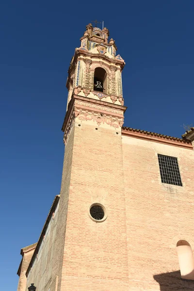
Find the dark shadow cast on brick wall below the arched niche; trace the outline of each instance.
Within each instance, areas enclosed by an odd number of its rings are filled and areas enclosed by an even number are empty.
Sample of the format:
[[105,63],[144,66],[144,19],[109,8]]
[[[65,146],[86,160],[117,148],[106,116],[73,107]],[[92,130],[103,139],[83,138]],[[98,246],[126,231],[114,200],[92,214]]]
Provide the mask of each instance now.
[[194,291],[194,280],[183,280],[180,271],[154,275],[161,291]]

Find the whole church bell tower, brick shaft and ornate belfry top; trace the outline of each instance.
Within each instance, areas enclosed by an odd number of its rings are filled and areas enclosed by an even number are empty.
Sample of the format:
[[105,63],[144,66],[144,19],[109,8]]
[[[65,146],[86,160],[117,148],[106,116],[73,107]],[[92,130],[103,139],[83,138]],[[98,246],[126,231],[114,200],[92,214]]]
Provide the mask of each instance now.
[[116,51],[108,29],[88,24],[68,70],[60,290],[128,290],[121,137],[125,62]]

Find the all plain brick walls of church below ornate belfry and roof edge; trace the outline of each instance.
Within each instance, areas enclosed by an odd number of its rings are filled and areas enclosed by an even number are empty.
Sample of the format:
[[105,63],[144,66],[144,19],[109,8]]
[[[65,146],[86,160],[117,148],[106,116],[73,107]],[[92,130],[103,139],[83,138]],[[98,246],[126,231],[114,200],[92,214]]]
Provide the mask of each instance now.
[[[178,157],[183,187],[162,184],[158,153]],[[181,239],[194,250],[193,173],[191,149],[76,118],[58,210],[26,291],[32,282],[37,291],[194,290],[180,279],[176,250]],[[89,217],[92,203],[106,207],[104,222]]]

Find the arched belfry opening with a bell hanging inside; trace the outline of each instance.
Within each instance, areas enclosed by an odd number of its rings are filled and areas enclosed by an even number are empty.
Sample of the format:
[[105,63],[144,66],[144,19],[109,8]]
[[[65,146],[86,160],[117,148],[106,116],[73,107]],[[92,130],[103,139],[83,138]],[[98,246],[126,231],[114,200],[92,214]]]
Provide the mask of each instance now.
[[94,72],[94,90],[107,93],[107,73],[101,67],[97,67]]

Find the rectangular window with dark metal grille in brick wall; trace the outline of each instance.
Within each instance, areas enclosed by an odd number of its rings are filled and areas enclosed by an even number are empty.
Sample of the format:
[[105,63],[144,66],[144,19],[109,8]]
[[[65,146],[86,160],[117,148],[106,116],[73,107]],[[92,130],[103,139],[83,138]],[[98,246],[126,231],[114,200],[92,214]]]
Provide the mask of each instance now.
[[158,154],[158,161],[162,183],[182,186],[177,158]]

